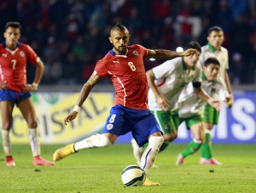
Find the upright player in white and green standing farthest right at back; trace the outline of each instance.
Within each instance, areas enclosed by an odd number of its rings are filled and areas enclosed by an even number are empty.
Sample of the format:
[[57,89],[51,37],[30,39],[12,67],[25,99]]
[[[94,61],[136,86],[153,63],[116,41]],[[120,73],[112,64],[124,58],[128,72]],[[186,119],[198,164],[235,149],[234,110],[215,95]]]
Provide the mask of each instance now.
[[[226,89],[228,94],[230,94],[230,101],[228,103],[228,108],[232,107],[233,96],[232,90],[230,86],[230,81],[228,77],[228,50],[223,48],[221,45],[224,41],[224,33],[223,30],[218,26],[213,26],[208,30],[208,44],[204,45],[201,50],[201,55],[199,61],[201,64],[204,63],[206,59],[209,57],[215,57],[219,63],[219,77],[221,77],[226,84]],[[209,105],[205,105],[205,142],[202,145],[202,154],[200,159],[200,164],[217,164],[220,165],[219,161],[213,158],[212,156],[212,145],[210,140],[210,134],[213,128],[213,125],[218,124],[219,119],[219,111],[214,110]]]

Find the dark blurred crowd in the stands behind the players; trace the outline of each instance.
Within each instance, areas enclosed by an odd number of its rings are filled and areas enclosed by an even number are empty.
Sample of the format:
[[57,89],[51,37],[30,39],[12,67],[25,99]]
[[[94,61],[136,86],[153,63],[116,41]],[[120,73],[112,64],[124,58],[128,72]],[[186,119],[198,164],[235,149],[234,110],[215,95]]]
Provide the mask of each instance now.
[[[205,45],[208,28],[220,26],[231,83],[256,82],[255,0],[1,0],[2,32],[8,21],[21,23],[21,42],[44,61],[44,85],[89,79],[95,62],[112,49],[108,37],[116,22],[128,28],[130,45],[167,50],[191,40]],[[161,62],[145,61],[146,70]]]

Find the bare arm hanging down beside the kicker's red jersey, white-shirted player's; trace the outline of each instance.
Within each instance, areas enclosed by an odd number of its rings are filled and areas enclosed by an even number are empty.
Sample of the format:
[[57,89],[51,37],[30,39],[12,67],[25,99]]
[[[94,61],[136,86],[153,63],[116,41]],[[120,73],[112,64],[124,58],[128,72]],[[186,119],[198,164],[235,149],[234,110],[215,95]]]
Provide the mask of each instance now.
[[146,72],[146,75],[147,75],[147,83],[149,85],[149,88],[152,89],[152,91],[154,92],[154,95],[156,96],[156,102],[161,107],[161,109],[169,110],[169,108],[170,108],[169,102],[170,101],[165,96],[162,96],[158,92],[156,85],[154,84],[154,76],[153,76],[152,70],[148,70]]

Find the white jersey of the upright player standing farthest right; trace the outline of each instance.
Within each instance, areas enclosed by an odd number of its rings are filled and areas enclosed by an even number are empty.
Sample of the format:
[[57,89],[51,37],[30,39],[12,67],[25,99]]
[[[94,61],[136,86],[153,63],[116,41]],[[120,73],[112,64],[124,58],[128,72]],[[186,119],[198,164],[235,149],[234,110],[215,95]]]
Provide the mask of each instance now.
[[219,61],[220,63],[219,77],[225,80],[225,71],[228,70],[229,68],[228,50],[226,48],[221,47],[221,50],[217,51],[210,45],[210,43],[208,43],[207,45],[204,45],[201,48],[201,54],[199,57],[199,61],[201,65],[203,66],[203,63],[205,62],[205,60],[210,57],[214,57]]

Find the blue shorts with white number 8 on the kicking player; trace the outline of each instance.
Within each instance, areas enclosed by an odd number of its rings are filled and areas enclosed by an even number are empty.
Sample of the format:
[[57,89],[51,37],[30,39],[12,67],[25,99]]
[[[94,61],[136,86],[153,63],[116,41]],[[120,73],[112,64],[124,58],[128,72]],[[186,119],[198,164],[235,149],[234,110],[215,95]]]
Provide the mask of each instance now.
[[102,133],[112,133],[120,136],[131,132],[141,147],[148,142],[151,134],[158,131],[161,132],[160,127],[149,110],[136,110],[115,105],[110,110]]

